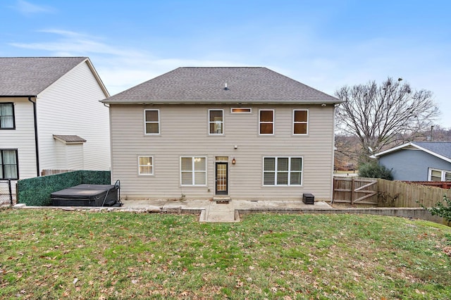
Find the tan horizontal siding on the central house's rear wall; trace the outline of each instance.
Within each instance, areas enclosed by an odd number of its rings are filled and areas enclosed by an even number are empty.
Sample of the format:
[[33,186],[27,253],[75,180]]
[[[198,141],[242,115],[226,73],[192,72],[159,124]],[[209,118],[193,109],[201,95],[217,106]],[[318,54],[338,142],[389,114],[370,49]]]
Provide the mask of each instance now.
[[[112,180],[128,199],[208,199],[215,195],[215,158],[228,156],[232,199],[331,199],[333,106],[145,106],[111,104]],[[144,135],[144,109],[159,109],[160,135]],[[223,109],[223,135],[209,135],[209,109]],[[259,110],[274,110],[274,135],[259,135]],[[292,135],[293,109],[309,110],[308,135]],[[237,149],[234,146],[237,145]],[[138,175],[137,157],[153,156],[154,175]],[[206,156],[206,187],[180,185],[180,156]],[[302,157],[303,185],[263,186],[264,157]],[[231,163],[235,158],[236,164]]]

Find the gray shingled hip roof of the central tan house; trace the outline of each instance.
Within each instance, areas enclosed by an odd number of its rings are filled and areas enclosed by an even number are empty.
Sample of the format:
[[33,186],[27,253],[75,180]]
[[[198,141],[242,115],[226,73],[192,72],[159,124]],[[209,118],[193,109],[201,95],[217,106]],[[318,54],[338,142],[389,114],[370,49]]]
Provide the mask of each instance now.
[[177,68],[104,99],[111,104],[336,104],[340,99],[268,68]]

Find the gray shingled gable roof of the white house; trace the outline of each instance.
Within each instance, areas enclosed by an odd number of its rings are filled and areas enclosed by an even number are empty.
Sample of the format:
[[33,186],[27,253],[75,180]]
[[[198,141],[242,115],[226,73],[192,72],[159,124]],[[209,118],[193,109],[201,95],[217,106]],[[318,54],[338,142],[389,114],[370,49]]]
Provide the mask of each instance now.
[[104,94],[109,96],[87,57],[0,57],[0,96],[37,96],[77,65],[85,62]]

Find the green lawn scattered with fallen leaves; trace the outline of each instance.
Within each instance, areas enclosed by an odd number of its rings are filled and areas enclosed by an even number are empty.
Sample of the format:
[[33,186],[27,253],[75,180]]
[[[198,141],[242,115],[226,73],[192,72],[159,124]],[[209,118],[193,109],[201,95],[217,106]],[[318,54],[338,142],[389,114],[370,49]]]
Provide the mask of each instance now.
[[373,215],[0,211],[0,299],[451,299],[451,228]]

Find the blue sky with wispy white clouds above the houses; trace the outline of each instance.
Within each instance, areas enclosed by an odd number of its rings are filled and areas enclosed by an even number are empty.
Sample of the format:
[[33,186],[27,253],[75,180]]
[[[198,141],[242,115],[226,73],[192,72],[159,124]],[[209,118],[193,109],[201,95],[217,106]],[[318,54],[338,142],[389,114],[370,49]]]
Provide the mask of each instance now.
[[89,56],[110,94],[183,66],[264,66],[333,94],[402,77],[451,127],[451,1],[2,0],[0,56]]

